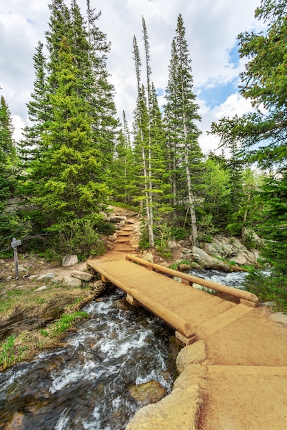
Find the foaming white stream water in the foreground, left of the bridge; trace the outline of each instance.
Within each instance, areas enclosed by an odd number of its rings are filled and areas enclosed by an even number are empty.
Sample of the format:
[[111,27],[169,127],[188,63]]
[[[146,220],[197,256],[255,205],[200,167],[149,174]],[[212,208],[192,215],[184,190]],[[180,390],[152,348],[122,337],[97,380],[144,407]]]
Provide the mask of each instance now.
[[169,329],[142,308],[114,306],[120,297],[87,305],[67,347],[0,374],[0,429],[11,420],[27,430],[125,429],[142,407],[129,385],[156,380],[170,391]]

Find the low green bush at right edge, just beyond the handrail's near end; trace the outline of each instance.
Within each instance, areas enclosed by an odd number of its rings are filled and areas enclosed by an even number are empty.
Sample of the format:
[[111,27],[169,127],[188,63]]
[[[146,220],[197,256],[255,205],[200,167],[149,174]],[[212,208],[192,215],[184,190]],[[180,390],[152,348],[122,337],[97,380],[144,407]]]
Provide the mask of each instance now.
[[275,309],[287,313],[287,280],[286,276],[266,274],[258,269],[248,273],[244,280],[246,291],[257,295],[260,301],[275,303]]

